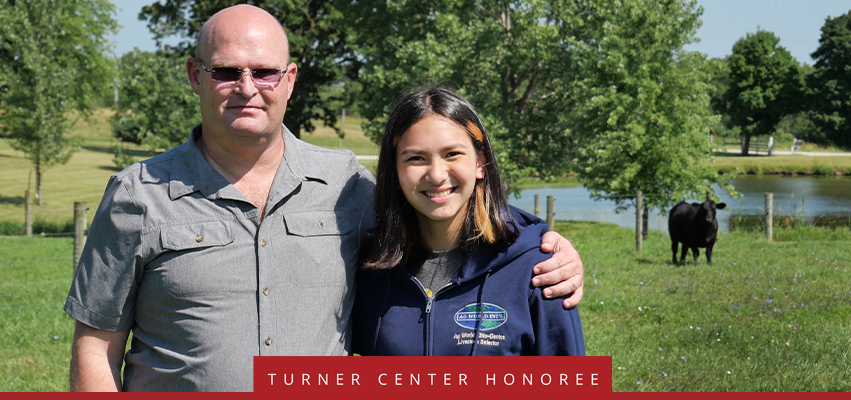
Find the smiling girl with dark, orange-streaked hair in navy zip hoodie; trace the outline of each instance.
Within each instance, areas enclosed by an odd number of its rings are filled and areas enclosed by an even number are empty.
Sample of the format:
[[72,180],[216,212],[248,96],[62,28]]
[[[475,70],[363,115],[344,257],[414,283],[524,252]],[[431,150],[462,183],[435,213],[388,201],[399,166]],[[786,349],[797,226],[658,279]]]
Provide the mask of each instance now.
[[531,266],[549,257],[540,251],[547,225],[509,209],[490,138],[463,97],[428,88],[399,101],[375,199],[355,353],[585,354],[576,307],[529,284]]

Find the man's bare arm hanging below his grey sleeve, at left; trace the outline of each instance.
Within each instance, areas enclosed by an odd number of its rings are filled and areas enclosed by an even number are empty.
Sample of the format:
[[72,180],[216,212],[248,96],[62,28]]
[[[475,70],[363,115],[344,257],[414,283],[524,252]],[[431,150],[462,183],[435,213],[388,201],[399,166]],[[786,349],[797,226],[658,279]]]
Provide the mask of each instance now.
[[130,331],[104,331],[77,321],[71,345],[71,391],[120,392],[129,335]]

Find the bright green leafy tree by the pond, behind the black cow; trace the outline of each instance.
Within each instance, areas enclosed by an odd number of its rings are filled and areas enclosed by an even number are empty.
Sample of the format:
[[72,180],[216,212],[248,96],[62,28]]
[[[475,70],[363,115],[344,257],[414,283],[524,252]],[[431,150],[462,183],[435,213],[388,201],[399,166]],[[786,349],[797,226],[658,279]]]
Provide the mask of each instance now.
[[710,65],[683,50],[702,11],[694,1],[615,3],[588,2],[585,36],[570,38],[580,77],[564,118],[577,178],[619,210],[636,191],[650,209],[703,198],[713,183],[735,193],[711,166]]

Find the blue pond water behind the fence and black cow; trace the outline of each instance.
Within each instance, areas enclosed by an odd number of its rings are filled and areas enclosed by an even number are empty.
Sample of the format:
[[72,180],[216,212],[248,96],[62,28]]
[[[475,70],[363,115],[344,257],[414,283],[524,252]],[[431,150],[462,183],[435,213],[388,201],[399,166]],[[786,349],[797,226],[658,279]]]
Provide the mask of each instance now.
[[[733,186],[743,197],[732,199],[721,188],[715,193],[727,203],[718,211],[718,228],[728,232],[731,224],[759,227],[765,211],[765,193],[774,193],[775,224],[816,224],[849,226],[851,224],[851,178],[778,175],[744,175],[733,179]],[[555,219],[599,221],[635,228],[635,210],[615,213],[615,202],[594,201],[584,187],[527,189],[520,197],[510,196],[509,203],[534,212],[534,196],[540,195],[540,215],[546,218],[546,197],[555,196]],[[698,201],[689,199],[688,201]],[[668,231],[668,217],[651,211],[648,228]]]

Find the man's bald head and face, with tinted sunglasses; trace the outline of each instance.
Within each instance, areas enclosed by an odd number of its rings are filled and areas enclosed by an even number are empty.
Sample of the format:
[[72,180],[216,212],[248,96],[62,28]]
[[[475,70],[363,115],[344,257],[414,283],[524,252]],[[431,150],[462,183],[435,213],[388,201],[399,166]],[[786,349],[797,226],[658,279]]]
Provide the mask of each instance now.
[[[288,47],[281,24],[254,6],[226,8],[204,24],[186,72],[201,102],[205,145],[249,150],[283,140],[282,122],[298,70],[289,62]],[[243,74],[212,73],[219,68],[237,68]],[[276,69],[281,80],[274,84],[245,73]]]

